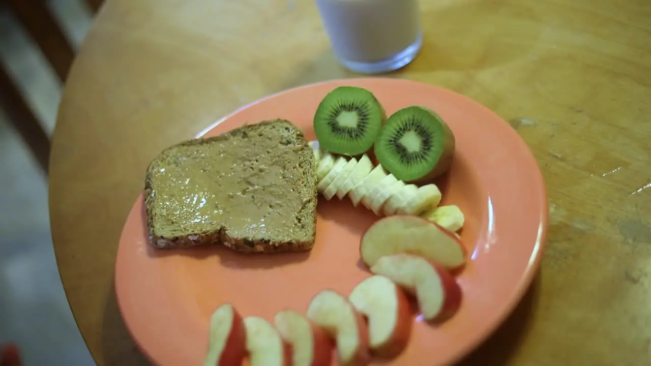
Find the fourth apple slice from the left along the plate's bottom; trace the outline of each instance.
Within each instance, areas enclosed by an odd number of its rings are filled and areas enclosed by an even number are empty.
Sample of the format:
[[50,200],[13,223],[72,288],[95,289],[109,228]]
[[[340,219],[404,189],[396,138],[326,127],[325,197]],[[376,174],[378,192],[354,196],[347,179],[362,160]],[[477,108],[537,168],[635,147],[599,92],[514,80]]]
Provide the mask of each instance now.
[[307,317],[335,339],[340,365],[368,364],[368,328],[364,317],[346,298],[334,290],[323,290],[308,305]]

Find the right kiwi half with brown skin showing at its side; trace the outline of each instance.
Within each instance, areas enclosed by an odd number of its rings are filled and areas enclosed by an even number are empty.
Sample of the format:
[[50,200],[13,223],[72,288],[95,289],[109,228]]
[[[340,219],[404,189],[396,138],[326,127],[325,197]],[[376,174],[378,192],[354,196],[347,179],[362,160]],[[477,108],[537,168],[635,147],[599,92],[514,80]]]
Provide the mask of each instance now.
[[449,169],[454,135],[434,111],[406,107],[391,115],[380,128],[374,152],[396,178],[406,183],[427,183]]

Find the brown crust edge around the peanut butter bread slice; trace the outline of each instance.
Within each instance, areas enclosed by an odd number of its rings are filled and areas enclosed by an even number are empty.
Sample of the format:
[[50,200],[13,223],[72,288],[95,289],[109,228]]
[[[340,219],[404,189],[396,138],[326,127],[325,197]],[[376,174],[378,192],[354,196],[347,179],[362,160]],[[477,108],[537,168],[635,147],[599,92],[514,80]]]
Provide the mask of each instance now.
[[[161,160],[167,156],[170,152],[173,152],[174,149],[183,146],[193,146],[193,145],[203,145],[203,144],[212,144],[217,141],[225,141],[230,139],[236,134],[242,134],[242,132],[247,132],[255,128],[266,124],[278,124],[282,128],[291,126],[294,132],[301,138],[301,151],[298,153],[302,157],[307,158],[307,165],[305,171],[305,177],[307,182],[304,182],[307,185],[307,189],[314,192],[309,201],[306,203],[309,205],[309,212],[311,213],[311,227],[313,228],[311,236],[307,240],[290,240],[290,241],[273,241],[259,238],[238,238],[232,237],[228,234],[228,228],[224,226],[215,227],[214,230],[204,231],[204,232],[191,232],[185,235],[167,237],[159,234],[156,231],[156,225],[154,223],[154,215],[152,210],[156,205],[156,194],[154,182],[152,182],[152,177],[154,169],[158,167],[161,163]],[[305,140],[303,132],[299,130],[292,122],[283,119],[275,120],[265,120],[258,122],[256,124],[244,124],[239,128],[230,130],[221,135],[207,138],[198,138],[184,141],[178,143],[172,147],[165,148],[147,167],[145,175],[145,207],[146,207],[146,216],[147,216],[147,227],[149,231],[150,243],[152,246],[161,248],[161,249],[173,249],[173,248],[184,248],[184,247],[193,247],[193,246],[204,246],[204,245],[224,245],[239,251],[242,253],[281,253],[287,251],[309,251],[314,246],[314,238],[316,237],[316,201],[317,201],[317,191],[316,191],[316,176],[314,176],[314,153],[312,148]]]

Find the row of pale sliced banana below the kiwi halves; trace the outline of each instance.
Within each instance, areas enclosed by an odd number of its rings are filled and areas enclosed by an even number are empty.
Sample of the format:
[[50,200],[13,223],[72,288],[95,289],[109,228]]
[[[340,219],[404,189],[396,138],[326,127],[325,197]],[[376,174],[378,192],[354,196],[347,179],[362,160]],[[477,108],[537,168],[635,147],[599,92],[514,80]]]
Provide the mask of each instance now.
[[361,203],[378,216],[422,216],[452,232],[464,226],[464,214],[457,206],[438,206],[441,191],[436,184],[406,184],[381,165],[374,166],[367,154],[357,160],[330,154],[318,141],[310,145],[316,158],[316,189],[327,200],[348,195],[353,206]]

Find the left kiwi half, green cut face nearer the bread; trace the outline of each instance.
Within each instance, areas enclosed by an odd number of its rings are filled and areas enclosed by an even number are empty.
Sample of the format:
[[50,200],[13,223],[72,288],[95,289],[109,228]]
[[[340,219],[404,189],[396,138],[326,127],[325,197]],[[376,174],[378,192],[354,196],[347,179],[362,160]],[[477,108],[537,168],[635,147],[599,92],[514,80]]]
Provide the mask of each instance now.
[[373,147],[384,119],[384,109],[372,92],[337,87],[316,108],[314,133],[324,150],[355,156]]

